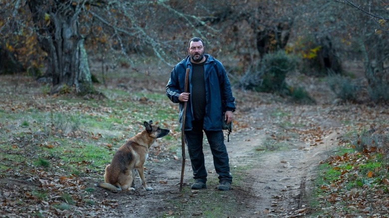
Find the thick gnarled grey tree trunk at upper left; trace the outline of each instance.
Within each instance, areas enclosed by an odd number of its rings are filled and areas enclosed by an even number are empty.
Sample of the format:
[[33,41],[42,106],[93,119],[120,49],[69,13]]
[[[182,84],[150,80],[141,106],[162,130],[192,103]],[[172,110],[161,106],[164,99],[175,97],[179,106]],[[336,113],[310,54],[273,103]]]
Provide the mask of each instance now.
[[38,27],[40,46],[48,53],[46,75],[52,77],[50,93],[67,92],[71,89],[75,89],[78,94],[92,92],[84,39],[78,31],[79,9],[51,0],[27,2]]

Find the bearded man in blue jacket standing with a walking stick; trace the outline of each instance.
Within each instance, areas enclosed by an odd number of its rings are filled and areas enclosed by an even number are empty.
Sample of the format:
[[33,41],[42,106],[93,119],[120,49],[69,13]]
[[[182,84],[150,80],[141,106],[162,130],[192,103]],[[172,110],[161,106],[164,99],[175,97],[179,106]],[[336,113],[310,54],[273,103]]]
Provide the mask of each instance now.
[[[185,141],[192,162],[195,182],[192,189],[206,189],[207,173],[202,151],[203,132],[213,155],[216,173],[219,175],[218,190],[231,188],[232,176],[229,172],[229,159],[224,144],[223,118],[232,122],[235,111],[235,98],[223,65],[205,54],[203,41],[192,38],[188,43],[189,55],[172,70],[166,86],[166,95],[173,103],[180,104],[180,127],[186,115]],[[186,69],[190,69],[189,93],[185,93]],[[187,114],[183,114],[187,102]],[[225,112],[224,117],[222,113]]]

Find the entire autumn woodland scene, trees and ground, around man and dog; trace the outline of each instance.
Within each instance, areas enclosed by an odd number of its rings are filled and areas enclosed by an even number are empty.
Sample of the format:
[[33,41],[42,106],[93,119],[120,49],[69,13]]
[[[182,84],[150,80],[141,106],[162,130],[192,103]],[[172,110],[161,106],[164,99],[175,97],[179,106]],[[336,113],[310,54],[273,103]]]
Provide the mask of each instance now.
[[[388,216],[388,9],[383,0],[0,0],[0,215]],[[189,163],[184,191],[175,186],[178,109],[165,86],[194,36],[223,63],[238,106],[227,193],[193,193]],[[156,191],[97,189],[150,117],[171,129],[145,167]],[[328,158],[317,166],[319,151]]]

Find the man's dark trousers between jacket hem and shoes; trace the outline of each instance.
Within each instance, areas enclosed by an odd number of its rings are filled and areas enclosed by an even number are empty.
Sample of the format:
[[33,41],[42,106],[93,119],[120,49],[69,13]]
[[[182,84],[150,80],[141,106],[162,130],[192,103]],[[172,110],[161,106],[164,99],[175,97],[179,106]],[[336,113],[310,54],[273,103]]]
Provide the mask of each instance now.
[[[206,169],[204,165],[204,153],[202,151],[203,129],[202,121],[193,121],[193,129],[185,131],[185,141],[188,147],[188,153],[191,158],[194,179],[206,182]],[[209,147],[213,156],[213,164],[216,173],[219,175],[219,181],[232,182],[232,176],[229,172],[229,159],[227,149],[224,144],[223,131],[205,131]]]

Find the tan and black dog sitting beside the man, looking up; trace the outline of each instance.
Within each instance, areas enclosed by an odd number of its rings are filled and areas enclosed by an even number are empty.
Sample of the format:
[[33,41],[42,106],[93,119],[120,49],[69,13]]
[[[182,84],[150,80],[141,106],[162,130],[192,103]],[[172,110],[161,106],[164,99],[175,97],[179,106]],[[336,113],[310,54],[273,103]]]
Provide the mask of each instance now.
[[105,167],[104,183],[97,186],[110,190],[111,192],[134,191],[135,170],[138,171],[143,188],[151,191],[148,187],[143,173],[143,165],[149,155],[149,148],[157,138],[169,134],[169,129],[152,125],[153,121],[144,122],[145,129],[131,137],[115,153],[111,164]]

